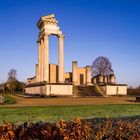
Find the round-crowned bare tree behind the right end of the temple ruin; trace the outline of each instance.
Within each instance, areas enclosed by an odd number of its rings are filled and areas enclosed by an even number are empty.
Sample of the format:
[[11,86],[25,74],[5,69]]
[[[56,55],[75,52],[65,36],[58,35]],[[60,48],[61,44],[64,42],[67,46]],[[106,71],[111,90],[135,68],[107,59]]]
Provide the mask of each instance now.
[[92,77],[96,75],[105,75],[108,76],[110,74],[114,74],[112,65],[108,58],[104,56],[98,57],[92,63]]

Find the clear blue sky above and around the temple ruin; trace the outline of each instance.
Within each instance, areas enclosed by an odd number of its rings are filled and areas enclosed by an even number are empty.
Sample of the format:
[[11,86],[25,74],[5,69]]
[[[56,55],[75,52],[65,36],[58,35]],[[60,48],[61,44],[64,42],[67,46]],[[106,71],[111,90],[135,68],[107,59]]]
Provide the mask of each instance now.
[[[21,81],[34,76],[36,23],[52,13],[65,35],[65,71],[73,60],[85,66],[106,56],[119,83],[140,85],[139,0],[0,0],[0,82],[11,68]],[[57,63],[53,36],[50,58]]]

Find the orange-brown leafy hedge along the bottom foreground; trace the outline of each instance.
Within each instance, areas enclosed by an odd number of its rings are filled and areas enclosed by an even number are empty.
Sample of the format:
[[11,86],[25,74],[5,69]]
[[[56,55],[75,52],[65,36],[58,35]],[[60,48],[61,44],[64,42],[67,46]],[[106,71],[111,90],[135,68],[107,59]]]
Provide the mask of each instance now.
[[16,126],[4,123],[0,126],[3,140],[139,140],[140,119],[90,120],[75,119],[71,122],[24,123]]

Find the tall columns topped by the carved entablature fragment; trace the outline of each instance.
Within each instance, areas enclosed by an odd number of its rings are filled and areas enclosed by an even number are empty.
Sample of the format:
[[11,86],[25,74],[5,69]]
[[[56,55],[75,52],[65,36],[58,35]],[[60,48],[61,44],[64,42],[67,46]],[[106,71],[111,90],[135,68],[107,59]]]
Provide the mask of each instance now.
[[55,35],[58,37],[58,81],[64,83],[64,35],[58,26],[58,21],[54,15],[41,17],[37,23],[40,30],[38,36],[38,65],[36,67],[36,82],[49,83],[51,68],[57,70],[57,66],[49,68],[49,36]]

